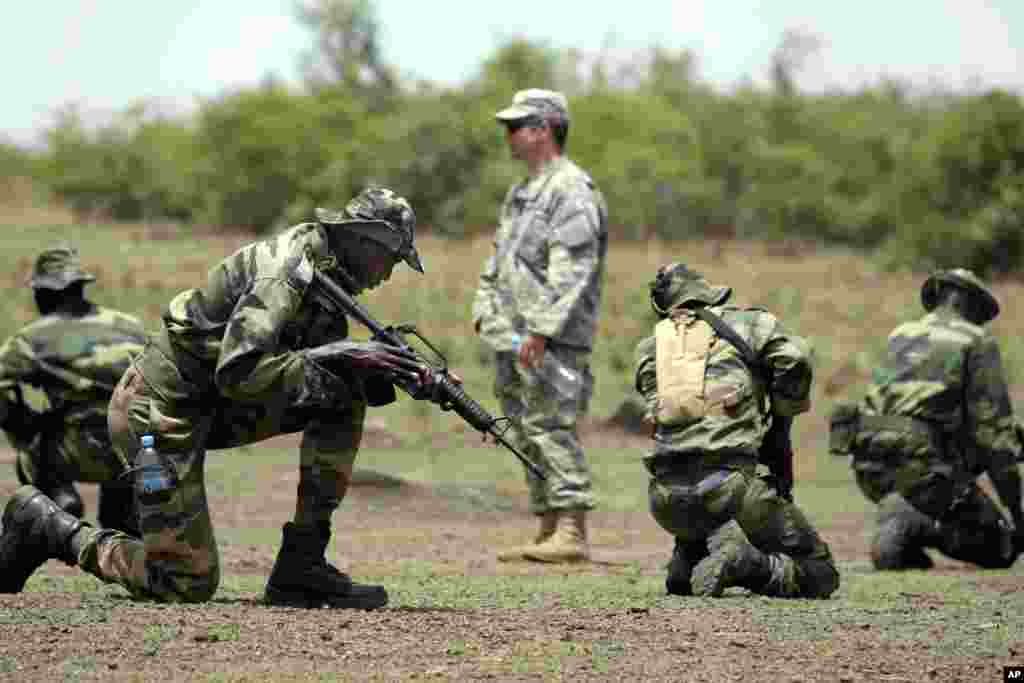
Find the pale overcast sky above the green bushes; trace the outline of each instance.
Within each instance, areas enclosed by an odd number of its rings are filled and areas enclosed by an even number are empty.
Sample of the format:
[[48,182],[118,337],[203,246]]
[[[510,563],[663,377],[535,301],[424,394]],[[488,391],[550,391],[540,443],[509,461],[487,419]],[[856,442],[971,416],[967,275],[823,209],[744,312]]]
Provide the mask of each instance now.
[[[0,137],[34,142],[53,111],[120,111],[139,98],[187,109],[196,96],[293,80],[310,36],[291,0],[41,0],[7,3]],[[510,36],[597,52],[689,48],[698,75],[728,87],[767,75],[786,29],[819,36],[806,88],[880,76],[922,86],[1024,91],[1024,0],[376,0],[385,58],[456,84]]]

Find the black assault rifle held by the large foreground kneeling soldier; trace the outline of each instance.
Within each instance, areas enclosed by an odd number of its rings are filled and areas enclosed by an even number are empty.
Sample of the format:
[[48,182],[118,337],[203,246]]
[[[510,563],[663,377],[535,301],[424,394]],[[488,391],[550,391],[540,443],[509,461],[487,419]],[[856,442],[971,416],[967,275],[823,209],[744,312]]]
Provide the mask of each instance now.
[[[429,368],[431,373],[431,382],[429,384],[431,395],[429,398],[437,403],[442,411],[455,411],[456,415],[468,422],[471,427],[485,435],[489,434],[498,443],[511,451],[512,455],[518,458],[519,462],[536,476],[541,479],[547,478],[544,471],[536,463],[522,455],[518,449],[505,438],[505,433],[511,426],[509,419],[505,417],[493,417],[487,413],[486,409],[473,400],[466,393],[465,389],[452,379],[452,375],[447,371],[447,359],[444,357],[444,354],[427,341],[415,326],[399,325],[397,327],[384,327],[375,321],[370,311],[353,299],[348,292],[319,271],[313,271],[313,286],[332,305],[346,315],[354,317],[370,330],[373,333],[374,341],[411,351],[421,362]],[[424,357],[419,350],[406,341],[404,335],[411,335],[423,342],[436,356],[436,361],[431,362],[430,359]],[[422,397],[416,393],[413,387],[407,386],[401,382],[395,382],[395,384],[410,395]]]

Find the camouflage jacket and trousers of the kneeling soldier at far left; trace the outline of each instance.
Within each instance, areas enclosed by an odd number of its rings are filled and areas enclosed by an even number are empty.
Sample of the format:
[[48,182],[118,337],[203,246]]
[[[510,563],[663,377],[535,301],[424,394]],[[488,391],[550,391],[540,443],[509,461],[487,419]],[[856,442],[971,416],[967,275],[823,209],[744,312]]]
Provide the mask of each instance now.
[[0,346],[0,395],[25,384],[49,404],[33,420],[34,437],[11,439],[27,483],[98,483],[124,470],[111,447],[106,405],[146,339],[137,318],[89,305],[81,314],[44,315]]

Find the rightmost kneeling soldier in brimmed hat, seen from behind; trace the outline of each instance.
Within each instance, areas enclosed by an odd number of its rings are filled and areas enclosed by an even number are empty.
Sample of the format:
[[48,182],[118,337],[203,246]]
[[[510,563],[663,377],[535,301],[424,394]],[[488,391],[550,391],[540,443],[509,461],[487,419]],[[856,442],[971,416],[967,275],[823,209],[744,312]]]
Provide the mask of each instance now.
[[836,452],[852,452],[858,485],[879,504],[877,568],[930,568],[926,548],[982,567],[1009,567],[1020,537],[1015,544],[995,501],[975,481],[988,473],[1019,535],[1020,443],[999,349],[984,327],[999,305],[962,268],[928,278],[921,300],[927,314],[889,336],[859,410],[844,405],[834,414],[834,443],[849,444]]

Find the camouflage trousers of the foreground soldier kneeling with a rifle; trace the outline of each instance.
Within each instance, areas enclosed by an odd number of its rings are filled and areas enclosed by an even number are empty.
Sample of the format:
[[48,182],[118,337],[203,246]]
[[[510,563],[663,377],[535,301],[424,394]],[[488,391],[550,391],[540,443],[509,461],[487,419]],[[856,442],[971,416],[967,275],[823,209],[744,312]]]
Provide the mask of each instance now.
[[[144,353],[153,352],[150,347]],[[202,602],[213,596],[220,582],[204,478],[207,444],[226,447],[232,441],[241,444],[260,440],[281,433],[283,425],[295,431],[297,420],[274,412],[272,405],[172,401],[166,398],[167,387],[158,386],[134,366],[125,373],[108,413],[111,436],[115,447],[130,460],[140,436],[153,434],[157,450],[171,460],[177,471],[178,487],[167,503],[139,505],[141,541],[111,529],[87,527],[79,565],[137,597]],[[337,507],[334,477],[346,467],[350,471],[365,414],[366,404],[353,402],[330,416],[307,421],[300,446],[299,511],[306,501],[319,506],[316,513],[329,518]],[[248,429],[242,430],[239,425]],[[225,427],[227,435],[214,433]],[[328,485],[322,486],[324,481]]]

